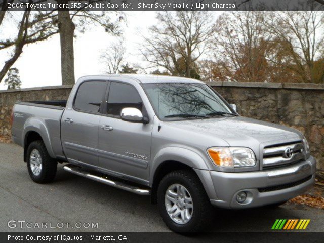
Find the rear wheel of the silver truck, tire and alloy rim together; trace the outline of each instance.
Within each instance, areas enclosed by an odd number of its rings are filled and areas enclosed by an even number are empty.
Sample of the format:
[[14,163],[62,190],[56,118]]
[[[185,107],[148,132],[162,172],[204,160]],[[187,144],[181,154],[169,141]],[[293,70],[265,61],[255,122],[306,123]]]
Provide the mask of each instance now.
[[42,140],[33,141],[27,149],[27,168],[30,178],[37,183],[54,180],[57,161],[50,157]]

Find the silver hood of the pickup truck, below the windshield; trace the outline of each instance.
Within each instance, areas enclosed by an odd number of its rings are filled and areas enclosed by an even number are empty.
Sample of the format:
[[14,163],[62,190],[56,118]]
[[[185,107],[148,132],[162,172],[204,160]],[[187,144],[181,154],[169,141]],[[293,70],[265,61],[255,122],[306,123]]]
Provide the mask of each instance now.
[[301,140],[302,136],[295,129],[242,116],[182,120],[174,124],[190,132],[223,139],[229,146],[248,147],[253,144],[253,147],[259,147],[260,143],[286,143]]

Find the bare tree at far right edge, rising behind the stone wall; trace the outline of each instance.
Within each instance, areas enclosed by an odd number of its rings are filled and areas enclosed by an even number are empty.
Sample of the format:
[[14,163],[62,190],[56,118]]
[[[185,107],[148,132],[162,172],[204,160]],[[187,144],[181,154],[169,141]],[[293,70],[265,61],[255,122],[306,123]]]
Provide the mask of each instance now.
[[[309,6],[308,6],[309,7]],[[318,83],[314,63],[324,50],[324,13],[320,11],[279,12],[265,21],[287,53],[286,62],[274,63],[292,70],[300,82]],[[272,59],[276,60],[276,59]]]

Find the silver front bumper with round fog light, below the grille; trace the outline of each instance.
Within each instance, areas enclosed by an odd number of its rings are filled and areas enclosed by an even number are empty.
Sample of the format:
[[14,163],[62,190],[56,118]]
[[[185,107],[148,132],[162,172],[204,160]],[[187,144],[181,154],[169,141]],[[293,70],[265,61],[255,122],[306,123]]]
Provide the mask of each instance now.
[[[265,206],[288,200],[307,191],[315,181],[316,161],[310,156],[290,167],[244,173],[196,170],[212,205],[227,209]],[[209,175],[208,175],[208,174]],[[236,195],[247,198],[238,203]]]

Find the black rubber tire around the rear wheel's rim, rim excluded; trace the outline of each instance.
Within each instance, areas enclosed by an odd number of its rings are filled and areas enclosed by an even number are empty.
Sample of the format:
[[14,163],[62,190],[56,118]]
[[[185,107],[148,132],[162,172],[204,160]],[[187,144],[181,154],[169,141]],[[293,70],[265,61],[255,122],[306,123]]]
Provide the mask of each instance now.
[[[42,169],[39,174],[32,172],[30,155],[32,151],[38,151],[41,156]],[[35,152],[35,151],[34,151]],[[36,183],[48,183],[54,180],[57,170],[57,161],[50,157],[42,140],[33,141],[27,149],[27,168],[30,178]]]

